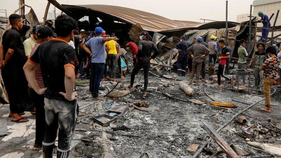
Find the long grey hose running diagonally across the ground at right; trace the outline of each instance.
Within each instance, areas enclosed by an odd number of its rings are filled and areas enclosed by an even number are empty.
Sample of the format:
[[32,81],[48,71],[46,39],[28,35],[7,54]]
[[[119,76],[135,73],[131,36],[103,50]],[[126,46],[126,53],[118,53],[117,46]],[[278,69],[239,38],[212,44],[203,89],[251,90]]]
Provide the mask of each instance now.
[[[270,87],[270,88],[272,88],[272,87]],[[272,89],[274,90],[274,92],[271,93],[270,96],[273,95],[273,94],[276,92],[276,89],[275,89],[275,88],[272,88]],[[255,102],[255,103],[249,105],[248,107],[244,108],[242,111],[240,111],[240,112],[238,112],[237,114],[233,115],[233,117],[231,117],[231,119],[229,119],[229,121],[227,121],[225,124],[223,124],[221,127],[219,127],[219,129],[217,129],[217,132],[219,132],[219,131],[220,131],[221,129],[223,129],[226,125],[228,125],[236,116],[240,115],[241,113],[243,113],[244,111],[248,110],[249,108],[251,108],[252,106],[254,106],[255,104],[257,104],[258,102],[263,101],[264,99],[265,99],[265,98],[262,98],[262,99],[258,100],[257,102]],[[201,148],[193,155],[192,158],[196,158],[196,157],[201,153],[201,151],[203,150],[203,148],[205,148],[205,146],[208,145],[208,143],[209,143],[211,140],[212,140],[212,138],[210,137],[210,138],[207,140],[207,142],[205,142],[205,143],[201,146]]]

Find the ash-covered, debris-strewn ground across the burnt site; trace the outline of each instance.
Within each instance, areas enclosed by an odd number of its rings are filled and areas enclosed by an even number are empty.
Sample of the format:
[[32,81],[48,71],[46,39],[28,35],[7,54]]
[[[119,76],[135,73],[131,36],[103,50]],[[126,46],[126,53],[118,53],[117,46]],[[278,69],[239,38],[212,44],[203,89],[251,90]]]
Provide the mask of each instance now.
[[[132,68],[131,68],[132,69]],[[140,72],[141,73],[141,72]],[[176,72],[167,73],[174,76]],[[126,74],[130,77],[130,73]],[[252,76],[253,77],[253,76]],[[253,79],[251,77],[251,84]],[[208,78],[208,75],[206,75]],[[177,77],[185,83],[189,82],[189,76]],[[130,80],[129,78],[123,80]],[[135,79],[134,85],[142,85],[143,75],[140,74]],[[112,82],[113,83],[113,82]],[[200,124],[207,120],[214,129],[218,129],[226,123],[238,111],[243,110],[250,104],[263,98],[263,93],[257,95],[250,89],[236,92],[229,89],[219,89],[212,87],[217,83],[206,83],[201,81],[201,86],[194,83],[189,85],[195,91],[193,96],[183,94],[183,90],[179,88],[179,81],[175,78],[159,78],[154,75],[149,76],[149,87],[159,87],[157,92],[149,92],[147,98],[142,99],[142,92],[136,90],[121,98],[107,98],[104,101],[92,100],[88,93],[89,86],[77,86],[79,118],[76,126],[74,138],[72,140],[72,149],[70,157],[140,157],[142,153],[147,153],[149,157],[192,157],[195,152],[210,137],[201,127]],[[223,85],[224,84],[224,85]],[[224,82],[222,87],[229,87],[229,81]],[[120,88],[121,83],[116,86],[116,90]],[[124,83],[128,86],[129,83]],[[163,85],[163,86],[162,86]],[[105,95],[113,88],[113,84],[107,83],[106,90],[100,91],[100,95]],[[107,88],[108,87],[108,88]],[[277,88],[277,86],[273,86]],[[204,90],[210,95],[208,97]],[[168,93],[179,100],[168,99],[163,93]],[[254,92],[254,93],[252,93]],[[273,90],[271,90],[271,93]],[[255,96],[252,96],[255,95]],[[197,105],[191,102],[184,102],[188,99],[198,99],[206,102],[203,105]],[[136,100],[147,102],[149,106],[154,106],[155,111],[144,112],[138,109],[132,110],[132,103]],[[180,101],[183,100],[183,101]],[[217,110],[210,107],[210,102],[216,100],[218,102],[233,103],[237,108],[231,108],[231,111]],[[236,101],[239,102],[236,102]],[[280,92],[271,96],[271,113],[260,111],[264,107],[264,100],[255,104],[241,115],[244,115],[252,125],[262,125],[279,131],[275,126],[280,123]],[[130,104],[130,110],[124,115],[118,117],[117,120],[107,127],[102,127],[89,116],[108,114],[103,106],[105,104],[116,102],[119,104]],[[9,106],[1,107],[2,117],[7,117]],[[29,112],[26,112],[29,114]],[[238,116],[241,116],[238,115]],[[30,119],[27,123],[13,123],[7,119],[8,135],[1,137],[0,156],[3,157],[41,157],[42,151],[33,151],[32,145],[35,138],[35,116],[26,115]],[[117,116],[115,116],[117,117]],[[247,125],[237,122],[238,117],[233,119],[219,134],[230,145],[235,144],[249,155],[242,157],[252,157],[269,155],[262,151],[253,149],[247,144],[247,141],[262,142],[268,144],[281,144],[281,137],[278,132],[269,130],[266,134],[259,134],[245,138],[242,129]],[[57,142],[56,142],[57,144]],[[187,150],[189,146],[198,144],[196,151]],[[198,157],[211,157],[219,149],[215,142],[211,142],[206,146]],[[214,157],[226,157],[223,152],[218,152]]]

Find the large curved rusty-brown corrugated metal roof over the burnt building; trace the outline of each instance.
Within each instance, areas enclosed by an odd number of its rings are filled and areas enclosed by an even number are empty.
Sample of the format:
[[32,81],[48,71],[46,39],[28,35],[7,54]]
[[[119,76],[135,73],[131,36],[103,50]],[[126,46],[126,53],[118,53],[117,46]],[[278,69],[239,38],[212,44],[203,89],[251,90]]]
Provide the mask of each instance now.
[[[118,19],[124,20],[130,24],[139,23],[140,26],[147,31],[164,31],[171,28],[176,28],[179,26],[183,26],[180,22],[170,20],[168,18],[164,18],[162,16],[126,8],[126,7],[119,7],[113,5],[99,5],[99,4],[92,4],[92,5],[62,5],[67,10],[72,12],[74,9],[81,8],[81,9],[90,9],[95,12],[108,14],[110,16],[116,17]],[[71,13],[75,14],[75,13]]]

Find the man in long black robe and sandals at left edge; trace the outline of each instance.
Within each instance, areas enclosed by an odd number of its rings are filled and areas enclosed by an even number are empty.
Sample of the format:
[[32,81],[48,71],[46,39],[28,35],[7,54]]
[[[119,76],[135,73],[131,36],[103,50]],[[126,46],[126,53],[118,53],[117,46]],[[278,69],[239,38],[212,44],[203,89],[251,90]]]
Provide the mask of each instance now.
[[22,67],[26,62],[24,45],[20,38],[23,23],[18,14],[9,16],[12,28],[3,34],[0,47],[0,68],[10,101],[10,116],[12,122],[27,122],[28,119],[20,115],[26,107],[32,105],[27,93],[27,81]]

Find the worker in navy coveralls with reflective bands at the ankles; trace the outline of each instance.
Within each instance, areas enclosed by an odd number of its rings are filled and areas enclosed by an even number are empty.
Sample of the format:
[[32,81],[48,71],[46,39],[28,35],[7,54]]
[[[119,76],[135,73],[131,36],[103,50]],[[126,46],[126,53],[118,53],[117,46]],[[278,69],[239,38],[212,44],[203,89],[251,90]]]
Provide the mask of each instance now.
[[177,61],[178,75],[185,76],[185,69],[187,64],[187,48],[190,47],[190,43],[185,40],[185,37],[181,37],[181,41],[176,44],[176,49],[179,50],[179,56]]

